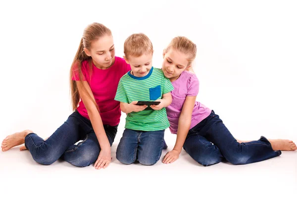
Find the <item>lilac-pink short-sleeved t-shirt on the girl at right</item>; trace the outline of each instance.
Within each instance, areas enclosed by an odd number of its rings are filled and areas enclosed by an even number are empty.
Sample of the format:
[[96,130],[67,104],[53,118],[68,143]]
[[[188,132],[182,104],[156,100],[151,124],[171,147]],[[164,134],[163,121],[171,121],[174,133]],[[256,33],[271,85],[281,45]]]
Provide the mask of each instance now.
[[[171,91],[172,103],[166,107],[167,117],[170,123],[170,132],[177,134],[178,119],[181,115],[183,105],[187,96],[197,96],[199,91],[199,81],[195,74],[184,71],[180,77],[172,82],[174,90]],[[196,101],[192,113],[190,129],[210,115],[211,110]]]

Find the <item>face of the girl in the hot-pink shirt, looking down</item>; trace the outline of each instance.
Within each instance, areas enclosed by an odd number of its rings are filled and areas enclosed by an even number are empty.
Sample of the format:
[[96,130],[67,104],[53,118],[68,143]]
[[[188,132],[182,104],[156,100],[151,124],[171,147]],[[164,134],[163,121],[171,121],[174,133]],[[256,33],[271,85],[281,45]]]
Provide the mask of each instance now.
[[98,68],[108,68],[114,62],[114,45],[111,35],[100,37],[91,43],[91,50],[85,49],[87,55],[92,56]]

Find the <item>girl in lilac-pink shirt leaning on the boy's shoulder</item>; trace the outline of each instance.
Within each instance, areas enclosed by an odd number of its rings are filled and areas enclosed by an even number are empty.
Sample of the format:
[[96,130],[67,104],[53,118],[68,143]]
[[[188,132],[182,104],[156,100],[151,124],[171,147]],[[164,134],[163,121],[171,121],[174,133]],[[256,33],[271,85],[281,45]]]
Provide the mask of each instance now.
[[172,103],[166,107],[169,129],[177,134],[175,146],[164,156],[163,163],[178,159],[182,148],[203,166],[223,159],[232,164],[248,164],[279,156],[281,150],[297,149],[292,141],[267,140],[263,136],[258,141],[237,141],[213,110],[196,101],[199,81],[187,71],[192,69],[196,51],[192,41],[176,37],[163,52],[162,69],[174,87]]

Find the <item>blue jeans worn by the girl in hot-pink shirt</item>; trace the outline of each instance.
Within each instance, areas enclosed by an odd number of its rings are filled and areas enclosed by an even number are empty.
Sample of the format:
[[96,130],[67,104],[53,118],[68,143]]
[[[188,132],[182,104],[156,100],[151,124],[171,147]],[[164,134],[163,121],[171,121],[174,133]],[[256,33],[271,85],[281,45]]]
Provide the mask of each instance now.
[[[106,136],[112,145],[117,126],[103,125]],[[78,141],[82,140],[77,145]],[[96,162],[100,146],[91,121],[74,111],[46,141],[35,133],[25,137],[25,146],[35,161],[49,165],[60,157],[79,167]]]

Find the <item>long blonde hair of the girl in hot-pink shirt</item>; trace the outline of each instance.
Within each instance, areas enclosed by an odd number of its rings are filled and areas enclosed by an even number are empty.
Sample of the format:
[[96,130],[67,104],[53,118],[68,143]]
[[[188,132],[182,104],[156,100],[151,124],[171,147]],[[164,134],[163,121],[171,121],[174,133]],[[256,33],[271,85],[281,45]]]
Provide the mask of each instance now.
[[[73,59],[71,69],[70,69],[70,94],[71,94],[71,103],[72,103],[73,110],[77,108],[80,100],[80,95],[78,92],[76,81],[72,80],[73,75],[78,73],[79,80],[82,81],[83,79],[82,62],[84,60],[89,60],[89,65],[90,65],[89,76],[91,76],[92,74],[92,57],[86,54],[86,52],[84,51],[84,48],[90,50],[92,42],[98,40],[100,37],[105,35],[111,35],[111,31],[100,23],[92,23],[88,25],[84,30],[83,38],[80,41],[78,50],[75,54],[75,57]],[[83,87],[83,89],[84,91],[86,91],[85,87]],[[92,99],[92,97],[89,94],[88,94],[88,97]],[[96,101],[94,99],[92,100],[95,103],[97,109],[99,110]]]

